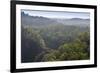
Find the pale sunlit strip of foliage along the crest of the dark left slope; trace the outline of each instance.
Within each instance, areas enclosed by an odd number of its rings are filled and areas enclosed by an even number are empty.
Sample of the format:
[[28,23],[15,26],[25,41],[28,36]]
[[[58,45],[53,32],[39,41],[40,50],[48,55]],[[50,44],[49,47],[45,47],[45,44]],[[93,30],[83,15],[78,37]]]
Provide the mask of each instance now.
[[31,40],[35,41],[41,48],[47,49],[44,39],[39,34],[38,30],[34,30],[33,28],[29,27],[25,29],[26,36]]

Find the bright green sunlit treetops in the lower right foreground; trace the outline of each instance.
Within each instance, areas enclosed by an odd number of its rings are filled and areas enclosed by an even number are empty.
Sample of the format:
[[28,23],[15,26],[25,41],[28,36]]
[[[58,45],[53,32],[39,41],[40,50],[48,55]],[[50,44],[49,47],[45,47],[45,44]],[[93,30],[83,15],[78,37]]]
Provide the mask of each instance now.
[[[88,40],[88,41],[87,41]],[[83,60],[89,59],[88,49],[89,34],[84,32],[79,34],[78,38],[72,43],[61,45],[57,51],[50,52],[44,56],[45,61],[59,60]],[[56,53],[57,52],[57,53]]]

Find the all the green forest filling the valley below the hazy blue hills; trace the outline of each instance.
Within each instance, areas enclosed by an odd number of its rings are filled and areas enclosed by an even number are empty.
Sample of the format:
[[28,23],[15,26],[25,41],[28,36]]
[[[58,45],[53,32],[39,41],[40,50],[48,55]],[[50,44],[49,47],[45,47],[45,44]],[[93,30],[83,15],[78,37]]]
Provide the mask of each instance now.
[[[43,21],[43,17],[24,18]],[[22,62],[45,62],[65,60],[86,60],[90,58],[90,28],[89,26],[64,25],[44,19],[28,26],[30,21],[24,21],[21,26]],[[25,24],[27,22],[27,24]],[[32,21],[33,22],[33,21]]]

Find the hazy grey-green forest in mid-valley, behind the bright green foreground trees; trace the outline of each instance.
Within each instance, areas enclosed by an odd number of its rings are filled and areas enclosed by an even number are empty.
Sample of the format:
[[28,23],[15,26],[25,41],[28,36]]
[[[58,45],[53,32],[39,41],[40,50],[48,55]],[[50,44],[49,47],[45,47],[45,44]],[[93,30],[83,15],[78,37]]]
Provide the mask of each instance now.
[[79,33],[87,31],[87,27],[55,25],[40,29],[40,35],[49,48],[55,49],[64,43],[73,42]]

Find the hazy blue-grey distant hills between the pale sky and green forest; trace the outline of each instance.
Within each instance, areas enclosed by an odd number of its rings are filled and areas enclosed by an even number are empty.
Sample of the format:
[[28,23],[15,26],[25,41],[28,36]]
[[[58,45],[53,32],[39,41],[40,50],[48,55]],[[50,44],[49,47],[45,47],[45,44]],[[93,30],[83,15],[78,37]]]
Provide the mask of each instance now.
[[42,16],[30,16],[21,13],[21,24],[23,26],[31,27],[44,27],[51,25],[74,25],[74,26],[89,26],[90,19],[71,18],[71,19],[59,19],[59,18],[47,18]]

